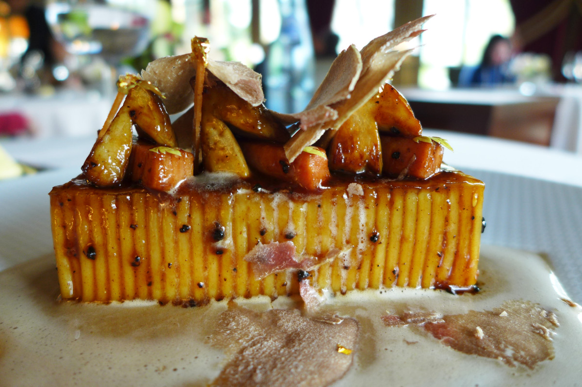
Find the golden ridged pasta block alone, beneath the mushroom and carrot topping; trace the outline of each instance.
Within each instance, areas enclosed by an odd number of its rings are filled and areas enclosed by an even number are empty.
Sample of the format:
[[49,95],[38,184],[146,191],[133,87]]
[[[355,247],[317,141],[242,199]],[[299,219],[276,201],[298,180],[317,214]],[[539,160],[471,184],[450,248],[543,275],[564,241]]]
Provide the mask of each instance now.
[[[332,292],[477,281],[484,184],[471,176],[338,180],[317,194],[251,187],[196,179],[174,194],[83,180],[55,187],[62,297],[204,304],[297,294],[296,271],[257,280],[245,260],[259,242],[289,240],[297,254],[321,258],[309,280]],[[339,253],[324,259],[330,251]]]

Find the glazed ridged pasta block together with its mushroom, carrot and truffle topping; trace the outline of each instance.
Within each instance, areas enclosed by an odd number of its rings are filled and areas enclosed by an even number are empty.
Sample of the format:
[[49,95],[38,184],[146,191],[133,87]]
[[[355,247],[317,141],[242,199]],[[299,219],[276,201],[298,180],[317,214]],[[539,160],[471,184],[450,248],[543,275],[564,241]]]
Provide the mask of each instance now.
[[83,173],[49,193],[63,299],[474,290],[484,184],[386,84],[430,17],[342,51],[291,115],[203,38],[120,77]]

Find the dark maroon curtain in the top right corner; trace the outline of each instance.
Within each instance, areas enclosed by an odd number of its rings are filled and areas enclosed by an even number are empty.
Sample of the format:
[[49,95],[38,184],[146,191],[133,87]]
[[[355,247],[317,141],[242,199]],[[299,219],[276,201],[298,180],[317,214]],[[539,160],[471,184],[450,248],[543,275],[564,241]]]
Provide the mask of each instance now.
[[510,0],[520,50],[548,54],[552,77],[565,81],[562,61],[569,51],[582,50],[582,0]]

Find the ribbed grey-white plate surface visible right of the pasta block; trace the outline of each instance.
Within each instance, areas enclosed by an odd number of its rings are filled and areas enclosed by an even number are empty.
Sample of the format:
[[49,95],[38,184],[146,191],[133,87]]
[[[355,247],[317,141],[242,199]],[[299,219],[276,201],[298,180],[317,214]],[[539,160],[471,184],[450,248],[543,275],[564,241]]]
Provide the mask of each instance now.
[[546,255],[567,293],[582,303],[582,188],[463,168],[485,182],[482,244]]

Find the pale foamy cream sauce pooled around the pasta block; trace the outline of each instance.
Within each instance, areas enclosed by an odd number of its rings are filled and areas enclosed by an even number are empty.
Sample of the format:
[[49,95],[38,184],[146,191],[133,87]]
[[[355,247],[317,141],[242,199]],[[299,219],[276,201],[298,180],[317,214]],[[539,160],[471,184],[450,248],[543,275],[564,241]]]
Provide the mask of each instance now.
[[[582,379],[582,310],[569,304],[558,279],[537,254],[482,247],[481,292],[392,288],[331,297],[324,310],[356,318],[360,345],[352,368],[334,386],[574,385]],[[207,345],[226,302],[207,307],[150,301],[59,303],[54,257],[0,273],[0,385],[206,385],[225,358]],[[556,356],[534,370],[467,355],[415,326],[386,327],[381,315],[404,310],[442,314],[491,310],[528,300],[556,314]],[[255,310],[292,308],[279,297],[237,300]]]

